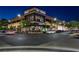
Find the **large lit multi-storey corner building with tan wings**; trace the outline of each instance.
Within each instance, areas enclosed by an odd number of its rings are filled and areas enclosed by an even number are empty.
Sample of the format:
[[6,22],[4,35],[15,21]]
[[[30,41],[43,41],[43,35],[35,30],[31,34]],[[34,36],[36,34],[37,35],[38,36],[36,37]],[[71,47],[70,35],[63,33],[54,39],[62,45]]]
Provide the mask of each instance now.
[[[21,23],[22,21],[24,21],[25,23],[28,22],[28,26],[22,27]],[[64,29],[66,28],[61,24],[56,23],[56,20],[54,20],[53,17],[47,16],[45,11],[40,10],[38,8],[31,8],[25,10],[23,15],[16,16],[8,24],[8,28],[13,27],[17,31],[27,31],[27,32],[28,31],[41,32],[43,29],[58,30],[59,26],[63,27]]]

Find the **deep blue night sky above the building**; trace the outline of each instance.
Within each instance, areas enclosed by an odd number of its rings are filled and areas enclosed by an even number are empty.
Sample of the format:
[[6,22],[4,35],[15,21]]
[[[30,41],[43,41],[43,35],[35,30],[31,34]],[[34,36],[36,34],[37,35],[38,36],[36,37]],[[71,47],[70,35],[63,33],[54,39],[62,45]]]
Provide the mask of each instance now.
[[[11,19],[31,7],[32,6],[0,6],[0,19]],[[37,8],[46,11],[47,15],[57,17],[60,20],[79,20],[78,6],[38,6]]]

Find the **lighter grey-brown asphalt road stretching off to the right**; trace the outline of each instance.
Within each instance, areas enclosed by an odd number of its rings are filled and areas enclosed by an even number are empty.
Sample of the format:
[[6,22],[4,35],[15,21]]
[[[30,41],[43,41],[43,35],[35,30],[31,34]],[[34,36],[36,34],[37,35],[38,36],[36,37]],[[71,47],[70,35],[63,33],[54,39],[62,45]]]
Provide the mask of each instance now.
[[79,49],[79,38],[75,38],[67,33],[58,33],[51,35],[53,39],[51,42],[42,44],[41,46],[50,46],[50,47],[67,47],[67,48],[76,48]]

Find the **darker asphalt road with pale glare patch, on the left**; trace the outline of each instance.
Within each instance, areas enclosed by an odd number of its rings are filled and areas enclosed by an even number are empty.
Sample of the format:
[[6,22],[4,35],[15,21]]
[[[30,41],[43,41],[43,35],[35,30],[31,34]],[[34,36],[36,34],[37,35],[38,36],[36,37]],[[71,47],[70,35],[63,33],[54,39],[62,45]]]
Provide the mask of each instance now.
[[1,43],[5,42],[11,46],[32,46],[50,42],[49,34],[15,34],[0,36]]

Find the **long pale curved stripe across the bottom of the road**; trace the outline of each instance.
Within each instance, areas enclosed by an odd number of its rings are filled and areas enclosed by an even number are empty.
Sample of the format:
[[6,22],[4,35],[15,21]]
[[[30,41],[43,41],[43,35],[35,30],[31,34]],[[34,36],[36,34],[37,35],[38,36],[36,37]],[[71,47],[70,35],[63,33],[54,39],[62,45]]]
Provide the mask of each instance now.
[[45,46],[11,46],[11,47],[0,47],[0,49],[17,49],[17,48],[44,48],[44,49],[56,49],[56,50],[66,50],[66,51],[79,51],[75,48],[66,48],[66,47],[45,47]]

